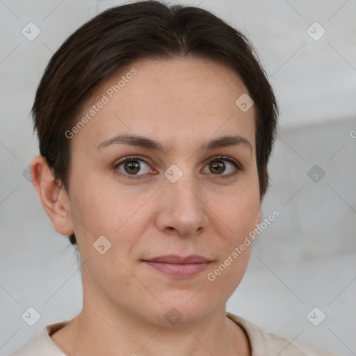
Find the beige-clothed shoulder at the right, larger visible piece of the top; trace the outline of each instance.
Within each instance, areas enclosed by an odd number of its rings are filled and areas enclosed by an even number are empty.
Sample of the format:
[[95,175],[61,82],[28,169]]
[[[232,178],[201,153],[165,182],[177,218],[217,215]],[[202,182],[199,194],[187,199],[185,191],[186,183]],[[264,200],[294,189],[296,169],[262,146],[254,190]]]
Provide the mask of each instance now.
[[327,353],[316,346],[303,341],[291,340],[268,332],[250,321],[235,314],[226,313],[227,317],[243,327],[250,339],[252,356],[337,356]]

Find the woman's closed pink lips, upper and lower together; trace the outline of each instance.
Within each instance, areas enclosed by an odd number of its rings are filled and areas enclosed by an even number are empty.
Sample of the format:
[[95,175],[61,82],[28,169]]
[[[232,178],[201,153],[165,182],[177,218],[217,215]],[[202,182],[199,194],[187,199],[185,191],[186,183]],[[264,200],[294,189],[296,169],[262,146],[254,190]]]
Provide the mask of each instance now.
[[211,262],[209,259],[197,254],[188,257],[179,257],[170,254],[143,261],[166,275],[180,278],[191,277],[202,272]]

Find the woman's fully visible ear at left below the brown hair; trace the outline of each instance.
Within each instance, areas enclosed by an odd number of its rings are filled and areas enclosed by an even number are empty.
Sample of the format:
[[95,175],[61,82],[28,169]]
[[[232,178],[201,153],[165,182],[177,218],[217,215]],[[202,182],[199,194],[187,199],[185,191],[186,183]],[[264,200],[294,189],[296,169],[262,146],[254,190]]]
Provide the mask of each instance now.
[[54,179],[43,156],[35,156],[31,161],[31,179],[56,232],[62,235],[73,234],[69,197],[64,186],[60,187]]

